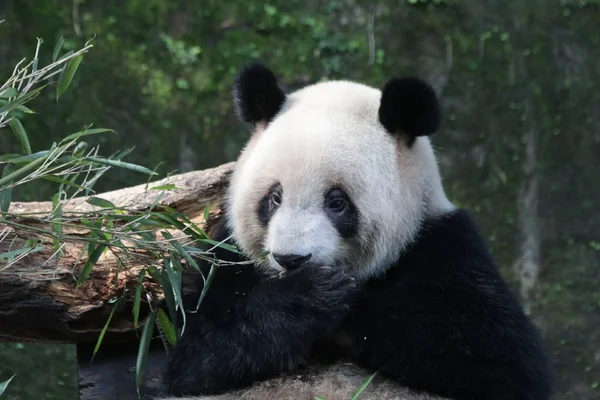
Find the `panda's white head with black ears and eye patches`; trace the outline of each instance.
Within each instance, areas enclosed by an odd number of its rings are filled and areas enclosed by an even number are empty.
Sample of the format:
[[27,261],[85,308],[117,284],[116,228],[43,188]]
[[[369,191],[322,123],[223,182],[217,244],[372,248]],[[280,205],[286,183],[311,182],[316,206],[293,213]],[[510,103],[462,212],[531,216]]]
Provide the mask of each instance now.
[[384,271],[421,222],[452,209],[427,138],[440,123],[433,89],[395,78],[382,90],[348,81],[285,94],[258,64],[234,86],[238,115],[254,126],[227,195],[227,223],[267,271]]

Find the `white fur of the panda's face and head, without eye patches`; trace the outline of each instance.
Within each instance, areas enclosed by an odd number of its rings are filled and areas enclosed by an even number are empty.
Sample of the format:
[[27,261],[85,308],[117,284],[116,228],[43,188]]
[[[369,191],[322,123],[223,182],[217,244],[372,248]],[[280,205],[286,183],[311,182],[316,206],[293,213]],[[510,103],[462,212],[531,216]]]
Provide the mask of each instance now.
[[[272,123],[256,128],[227,199],[228,224],[245,253],[311,253],[316,264],[341,262],[367,279],[398,258],[424,218],[453,209],[429,138],[410,148],[400,143],[379,123],[380,99],[380,90],[363,84],[320,82],[288,95]],[[274,182],[285,194],[267,231],[255,204]],[[360,210],[359,246],[344,241],[323,212],[322,193],[337,182]],[[266,267],[282,271],[272,256]]]

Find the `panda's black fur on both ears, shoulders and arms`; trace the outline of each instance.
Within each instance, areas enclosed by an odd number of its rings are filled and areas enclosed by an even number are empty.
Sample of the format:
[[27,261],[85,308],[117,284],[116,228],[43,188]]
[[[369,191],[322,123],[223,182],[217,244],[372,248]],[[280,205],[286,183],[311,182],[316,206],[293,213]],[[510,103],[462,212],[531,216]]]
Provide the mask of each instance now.
[[[270,121],[283,104],[274,76],[256,65],[244,71],[234,91],[240,116]],[[403,97],[407,88],[419,102]],[[440,117],[429,90],[417,79],[391,82],[382,91],[382,125],[394,134],[431,133]],[[394,114],[398,105],[408,111]],[[215,240],[231,237],[225,219]],[[209,265],[201,266],[206,275]],[[202,287],[199,280],[198,293]],[[464,209],[426,220],[394,265],[364,284],[339,268],[300,267],[281,278],[248,265],[218,269],[198,312],[187,314],[166,383],[170,395],[219,394],[339,357],[456,400],[548,400],[552,393],[540,336]]]

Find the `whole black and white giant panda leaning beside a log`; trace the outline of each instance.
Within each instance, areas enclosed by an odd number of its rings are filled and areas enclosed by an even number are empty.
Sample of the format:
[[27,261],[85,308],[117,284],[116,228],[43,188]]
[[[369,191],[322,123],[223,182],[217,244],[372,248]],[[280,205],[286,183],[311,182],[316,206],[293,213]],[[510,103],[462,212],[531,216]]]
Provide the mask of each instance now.
[[252,133],[214,239],[243,263],[187,314],[165,396],[349,400],[375,373],[361,400],[550,398],[540,335],[444,192],[425,81],[286,94],[250,64],[233,93]]

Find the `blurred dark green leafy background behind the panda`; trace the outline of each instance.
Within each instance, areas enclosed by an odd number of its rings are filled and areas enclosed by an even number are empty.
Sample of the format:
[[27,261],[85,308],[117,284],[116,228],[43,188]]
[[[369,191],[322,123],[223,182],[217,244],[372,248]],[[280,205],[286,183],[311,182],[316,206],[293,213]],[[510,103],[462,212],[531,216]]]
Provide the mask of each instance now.
[[[294,90],[320,79],[381,86],[418,74],[443,99],[433,137],[452,200],[481,224],[543,332],[557,399],[600,399],[600,1],[2,0],[0,80],[56,39],[94,49],[61,97],[23,124],[33,151],[83,125],[112,128],[103,154],[164,176],[235,159],[248,137],[231,83],[260,60]],[[18,150],[0,132],[2,154]],[[115,170],[111,190],[146,177]],[[49,200],[24,186],[14,200]],[[71,346],[0,344],[7,399],[77,399]]]

